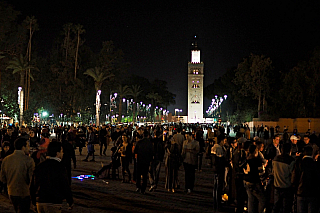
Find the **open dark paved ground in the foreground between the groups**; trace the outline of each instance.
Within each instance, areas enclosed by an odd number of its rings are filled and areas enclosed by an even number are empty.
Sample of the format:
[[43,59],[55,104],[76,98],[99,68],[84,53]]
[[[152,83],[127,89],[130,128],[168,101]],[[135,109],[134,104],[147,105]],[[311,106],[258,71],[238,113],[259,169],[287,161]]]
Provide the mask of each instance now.
[[[99,153],[99,146],[96,145],[96,153]],[[76,151],[77,168],[72,171],[73,176],[91,174],[91,171],[98,171],[101,162],[107,164],[110,161],[110,148],[107,156],[96,156],[96,162],[82,161],[85,156],[79,155]],[[86,153],[84,148],[83,153]],[[91,158],[89,158],[91,159]],[[179,170],[181,189],[175,193],[168,192],[164,188],[165,168],[161,167],[160,181],[155,192],[147,192],[145,195],[135,192],[135,185],[122,183],[121,180],[95,179],[72,181],[72,191],[74,196],[74,208],[67,210],[64,205],[64,212],[77,213],[102,213],[102,212],[213,212],[212,208],[212,170],[203,161],[202,172],[196,173],[196,183],[194,192],[190,195],[184,193],[184,171]],[[133,165],[130,165],[133,171]],[[0,194],[0,212],[14,212],[13,207],[7,197]],[[232,208],[227,208],[225,212],[234,212]]]

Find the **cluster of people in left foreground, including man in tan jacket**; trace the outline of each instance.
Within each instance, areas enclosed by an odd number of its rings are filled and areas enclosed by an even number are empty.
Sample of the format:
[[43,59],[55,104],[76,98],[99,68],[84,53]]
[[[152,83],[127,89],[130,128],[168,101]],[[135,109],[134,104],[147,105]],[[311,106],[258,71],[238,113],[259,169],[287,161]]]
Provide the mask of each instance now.
[[[35,136],[35,132],[36,129],[22,126],[20,131],[8,128],[2,135],[2,188],[7,187],[5,193],[15,212],[29,212],[31,204],[37,212],[61,212],[65,199],[69,208],[72,208],[71,169],[70,173],[67,172],[66,166],[72,145],[69,144],[70,149],[66,145],[68,142],[50,141],[47,129],[42,130],[40,138]],[[30,145],[37,148],[32,154]]]

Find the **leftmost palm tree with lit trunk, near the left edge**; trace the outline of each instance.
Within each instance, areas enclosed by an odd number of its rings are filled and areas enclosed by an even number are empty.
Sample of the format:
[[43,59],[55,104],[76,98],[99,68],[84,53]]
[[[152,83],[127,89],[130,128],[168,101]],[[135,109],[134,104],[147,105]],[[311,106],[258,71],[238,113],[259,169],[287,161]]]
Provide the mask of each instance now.
[[[22,95],[24,94],[24,89],[25,89],[25,73],[27,70],[31,70],[31,69],[37,69],[35,68],[34,66],[30,65],[28,63],[28,61],[26,60],[26,58],[24,58],[22,56],[22,54],[20,54],[20,57],[14,57],[11,61],[9,61],[9,65],[7,66],[6,70],[8,69],[12,69],[13,72],[12,74],[15,74],[15,73],[20,73],[20,87],[22,88],[21,90],[21,93]],[[33,76],[31,75],[30,73],[30,78],[32,80],[33,79]],[[23,102],[23,100],[22,100]],[[21,106],[21,105],[20,105]],[[20,107],[20,125],[22,125],[22,122],[23,122],[23,108]]]

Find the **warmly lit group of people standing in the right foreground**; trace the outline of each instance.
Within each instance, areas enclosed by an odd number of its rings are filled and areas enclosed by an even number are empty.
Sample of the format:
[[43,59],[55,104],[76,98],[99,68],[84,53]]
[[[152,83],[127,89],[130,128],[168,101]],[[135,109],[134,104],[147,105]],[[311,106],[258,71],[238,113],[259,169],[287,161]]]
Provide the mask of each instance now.
[[[214,167],[214,208],[222,208],[223,193],[236,212],[319,212],[319,147],[292,135],[276,134],[266,142],[238,132],[236,138],[215,138],[211,149]],[[247,203],[247,204],[245,204]]]

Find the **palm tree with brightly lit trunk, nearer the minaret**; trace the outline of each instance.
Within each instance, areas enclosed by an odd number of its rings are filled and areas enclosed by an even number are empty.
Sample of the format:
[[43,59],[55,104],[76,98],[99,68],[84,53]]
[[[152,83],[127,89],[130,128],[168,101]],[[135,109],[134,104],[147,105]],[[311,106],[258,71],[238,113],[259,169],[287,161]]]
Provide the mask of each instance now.
[[92,77],[94,80],[94,87],[96,90],[96,126],[99,126],[101,87],[103,82],[105,82],[108,78],[113,77],[114,75],[112,73],[104,72],[103,70],[101,70],[100,67],[87,69],[87,71],[85,71],[84,74]]

